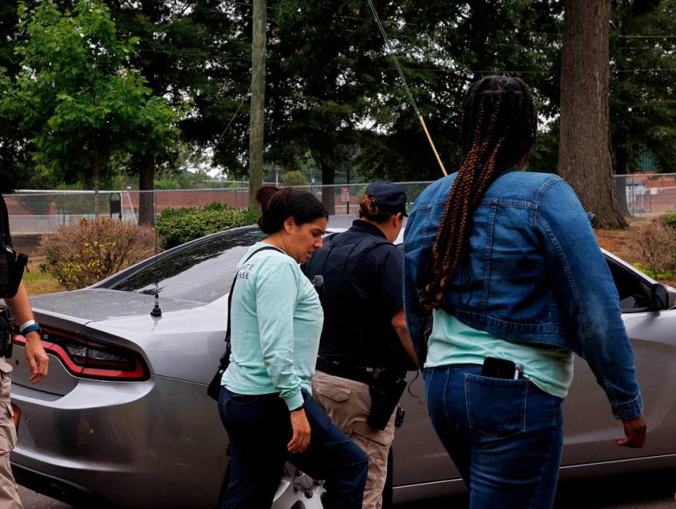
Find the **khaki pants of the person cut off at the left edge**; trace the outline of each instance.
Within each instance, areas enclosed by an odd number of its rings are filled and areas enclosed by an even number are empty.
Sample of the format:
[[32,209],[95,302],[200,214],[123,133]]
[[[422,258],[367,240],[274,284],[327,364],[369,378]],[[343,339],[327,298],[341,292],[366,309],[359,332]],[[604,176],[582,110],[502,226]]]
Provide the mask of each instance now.
[[23,509],[9,464],[9,453],[16,445],[14,412],[10,404],[12,365],[0,357],[0,508]]

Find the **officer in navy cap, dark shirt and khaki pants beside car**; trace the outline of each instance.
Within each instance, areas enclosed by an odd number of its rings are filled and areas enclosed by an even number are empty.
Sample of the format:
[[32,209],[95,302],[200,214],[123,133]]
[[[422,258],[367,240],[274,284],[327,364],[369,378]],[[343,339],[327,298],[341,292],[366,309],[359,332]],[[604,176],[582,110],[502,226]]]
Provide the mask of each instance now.
[[368,454],[363,508],[382,507],[387,455],[406,371],[417,369],[403,318],[403,256],[392,242],[406,215],[406,192],[391,182],[366,188],[359,219],[325,238],[301,266],[323,277],[324,327],[312,381],[316,401]]

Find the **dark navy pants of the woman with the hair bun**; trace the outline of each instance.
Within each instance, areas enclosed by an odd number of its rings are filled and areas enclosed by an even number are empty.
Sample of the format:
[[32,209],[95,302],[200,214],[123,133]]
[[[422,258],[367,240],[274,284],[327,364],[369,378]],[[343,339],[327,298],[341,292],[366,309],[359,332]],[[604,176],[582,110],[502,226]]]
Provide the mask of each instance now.
[[230,438],[230,484],[220,507],[269,508],[289,461],[314,479],[325,479],[326,509],[361,509],[368,456],[340,431],[306,391],[310,445],[289,453],[289,409],[279,394],[242,396],[223,387],[218,410]]

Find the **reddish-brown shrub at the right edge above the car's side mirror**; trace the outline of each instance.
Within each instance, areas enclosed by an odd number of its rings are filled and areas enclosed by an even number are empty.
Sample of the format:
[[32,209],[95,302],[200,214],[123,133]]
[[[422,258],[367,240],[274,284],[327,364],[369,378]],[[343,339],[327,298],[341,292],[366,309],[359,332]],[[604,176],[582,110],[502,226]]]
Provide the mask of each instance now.
[[652,273],[668,272],[676,268],[676,232],[660,221],[638,225],[632,230],[632,240],[642,260]]

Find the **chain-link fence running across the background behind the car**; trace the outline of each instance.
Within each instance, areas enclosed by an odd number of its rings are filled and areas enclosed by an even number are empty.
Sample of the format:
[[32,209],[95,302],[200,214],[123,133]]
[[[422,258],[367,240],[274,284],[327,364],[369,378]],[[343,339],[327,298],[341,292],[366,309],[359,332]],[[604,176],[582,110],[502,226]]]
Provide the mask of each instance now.
[[[20,191],[5,195],[13,241],[18,251],[40,256],[42,235],[82,218],[99,217],[153,224],[165,208],[201,207],[213,201],[236,208],[249,206],[247,182],[231,182],[225,189],[178,189],[169,191]],[[409,206],[430,182],[399,182]],[[653,218],[676,210],[676,173],[616,175],[620,210],[632,218]],[[366,183],[308,185],[303,189],[324,203],[331,215],[358,213]],[[224,186],[225,187],[225,186]]]

